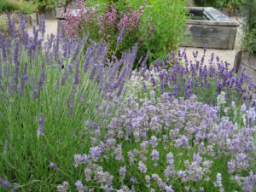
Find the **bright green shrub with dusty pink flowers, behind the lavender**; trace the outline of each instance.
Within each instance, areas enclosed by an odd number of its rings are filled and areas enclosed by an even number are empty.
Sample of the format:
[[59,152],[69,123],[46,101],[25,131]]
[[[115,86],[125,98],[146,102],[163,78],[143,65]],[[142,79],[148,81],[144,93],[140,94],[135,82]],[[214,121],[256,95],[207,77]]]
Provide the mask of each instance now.
[[154,61],[176,50],[183,41],[188,14],[188,9],[184,8],[186,1],[143,1],[137,6],[129,1],[118,1],[105,5],[105,9],[102,4],[91,5],[90,1],[77,1],[80,9],[75,14],[72,9],[67,9],[64,29],[69,37],[88,31],[93,39],[104,38],[109,42],[109,57],[113,53],[121,55],[138,42],[137,61],[148,49],[149,61]]

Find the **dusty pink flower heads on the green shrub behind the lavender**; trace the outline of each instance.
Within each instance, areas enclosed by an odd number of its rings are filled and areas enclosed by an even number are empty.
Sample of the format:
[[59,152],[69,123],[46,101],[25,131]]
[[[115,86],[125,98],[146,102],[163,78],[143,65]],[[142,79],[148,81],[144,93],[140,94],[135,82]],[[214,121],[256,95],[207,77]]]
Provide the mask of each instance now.
[[76,4],[79,9],[74,12],[68,7],[67,13],[63,15],[65,20],[62,23],[69,37],[89,31],[94,38],[105,38],[105,40],[116,38],[116,34],[123,28],[125,28],[123,33],[138,29],[143,15],[143,9],[135,11],[129,8],[126,12],[119,13],[115,3],[111,6],[106,5],[102,15],[98,7],[92,8],[84,1],[78,0]]

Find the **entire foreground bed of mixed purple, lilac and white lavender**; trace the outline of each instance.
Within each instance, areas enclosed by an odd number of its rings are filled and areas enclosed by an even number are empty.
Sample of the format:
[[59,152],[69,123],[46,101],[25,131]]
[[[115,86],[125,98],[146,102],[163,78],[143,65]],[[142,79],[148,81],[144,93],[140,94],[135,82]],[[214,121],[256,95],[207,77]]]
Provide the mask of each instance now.
[[243,71],[185,51],[132,71],[137,44],[109,60],[103,41],[44,39],[41,20],[0,33],[1,191],[255,190]]

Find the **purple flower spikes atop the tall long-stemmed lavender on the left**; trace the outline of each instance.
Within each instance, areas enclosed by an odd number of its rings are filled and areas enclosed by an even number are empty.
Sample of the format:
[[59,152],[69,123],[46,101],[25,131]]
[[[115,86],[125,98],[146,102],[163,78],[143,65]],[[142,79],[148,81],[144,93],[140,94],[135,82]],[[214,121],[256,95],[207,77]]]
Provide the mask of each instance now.
[[[137,45],[127,51],[120,60],[112,63],[107,60],[108,44],[103,42],[96,44],[91,41],[89,48],[83,53],[84,42],[87,41],[86,36],[73,40],[51,36],[43,45],[43,39],[38,39],[38,32],[41,30],[44,33],[44,17],[42,17],[42,22],[40,29],[34,28],[32,37],[29,37],[23,30],[20,38],[15,38],[13,43],[9,38],[3,38],[0,35],[0,77],[4,79],[1,80],[0,87],[3,102],[5,98],[14,97],[15,92],[19,96],[23,96],[26,88],[31,86],[33,88],[32,95],[28,94],[28,96],[38,99],[40,92],[49,87],[47,82],[50,81],[50,76],[54,73],[59,75],[55,82],[56,92],[61,89],[61,86],[73,83],[71,95],[67,100],[70,108],[73,106],[76,92],[83,85],[85,74],[90,74],[90,80],[99,88],[99,93],[103,92],[106,100],[115,96],[114,90],[117,90],[117,96],[121,95],[125,89],[126,79],[131,77]],[[11,51],[12,49],[14,51]],[[35,58],[40,54],[45,56],[35,62]],[[25,55],[28,57],[28,61],[20,62],[20,58]],[[122,68],[119,70],[121,66]],[[6,93],[9,94],[6,95]],[[83,93],[79,94],[84,96]],[[40,129],[38,129],[40,134],[43,133],[43,121],[42,119]]]

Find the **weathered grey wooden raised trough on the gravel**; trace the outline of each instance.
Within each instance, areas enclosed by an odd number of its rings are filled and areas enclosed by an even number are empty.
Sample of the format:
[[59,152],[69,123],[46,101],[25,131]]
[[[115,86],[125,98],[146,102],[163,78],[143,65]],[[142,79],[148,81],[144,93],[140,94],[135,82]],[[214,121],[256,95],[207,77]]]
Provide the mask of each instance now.
[[188,47],[204,47],[215,49],[234,49],[236,40],[236,21],[222,14],[217,9],[193,7],[192,11],[201,11],[209,20],[188,20],[191,41],[181,44]]

